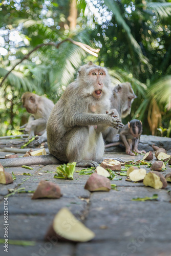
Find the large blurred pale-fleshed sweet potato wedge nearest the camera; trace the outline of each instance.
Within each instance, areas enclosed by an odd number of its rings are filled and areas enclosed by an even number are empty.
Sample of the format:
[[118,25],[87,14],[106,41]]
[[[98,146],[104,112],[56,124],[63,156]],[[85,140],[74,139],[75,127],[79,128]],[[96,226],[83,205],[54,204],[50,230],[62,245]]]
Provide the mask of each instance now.
[[62,208],[56,214],[45,239],[58,237],[72,242],[88,242],[95,237],[94,232],[78,221],[68,208]]

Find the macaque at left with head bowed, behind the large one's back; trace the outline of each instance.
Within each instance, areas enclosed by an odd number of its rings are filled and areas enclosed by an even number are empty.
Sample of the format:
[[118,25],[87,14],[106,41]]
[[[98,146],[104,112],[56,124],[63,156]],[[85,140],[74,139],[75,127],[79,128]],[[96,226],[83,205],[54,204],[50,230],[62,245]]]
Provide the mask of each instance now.
[[28,123],[20,128],[25,127],[25,132],[29,134],[28,139],[39,135],[36,140],[37,144],[47,141],[46,125],[54,103],[46,97],[29,92],[23,94],[22,101],[24,108],[26,108],[27,112],[31,113],[31,115]]

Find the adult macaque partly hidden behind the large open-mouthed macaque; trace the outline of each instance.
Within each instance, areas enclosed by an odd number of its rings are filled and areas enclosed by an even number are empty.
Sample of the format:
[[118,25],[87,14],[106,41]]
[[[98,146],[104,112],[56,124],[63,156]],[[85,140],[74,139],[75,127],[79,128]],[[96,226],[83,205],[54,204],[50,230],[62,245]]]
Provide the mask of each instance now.
[[[131,104],[136,97],[130,82],[118,84],[113,89],[110,111],[114,111],[119,119],[126,117],[131,113]],[[103,132],[103,138],[107,143],[111,143],[115,141],[117,134],[118,130],[109,127]]]

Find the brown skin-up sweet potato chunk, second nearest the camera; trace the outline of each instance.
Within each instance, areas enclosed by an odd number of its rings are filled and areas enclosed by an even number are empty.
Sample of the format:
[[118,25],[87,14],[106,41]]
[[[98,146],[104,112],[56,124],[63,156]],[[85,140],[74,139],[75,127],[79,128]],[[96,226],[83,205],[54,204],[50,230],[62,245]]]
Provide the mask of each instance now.
[[60,198],[60,187],[53,182],[41,180],[32,196],[32,199],[37,198]]

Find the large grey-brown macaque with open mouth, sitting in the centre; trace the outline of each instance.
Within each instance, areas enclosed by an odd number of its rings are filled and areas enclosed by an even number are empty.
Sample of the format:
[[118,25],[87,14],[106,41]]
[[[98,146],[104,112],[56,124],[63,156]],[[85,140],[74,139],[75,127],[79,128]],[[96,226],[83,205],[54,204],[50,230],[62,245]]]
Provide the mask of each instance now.
[[108,126],[114,129],[123,126],[114,112],[106,114],[110,110],[111,93],[110,76],[105,68],[91,61],[82,66],[49,117],[47,136],[51,156],[25,157],[15,162],[16,159],[5,159],[2,165],[77,162],[77,167],[97,166],[104,154],[102,131]]

